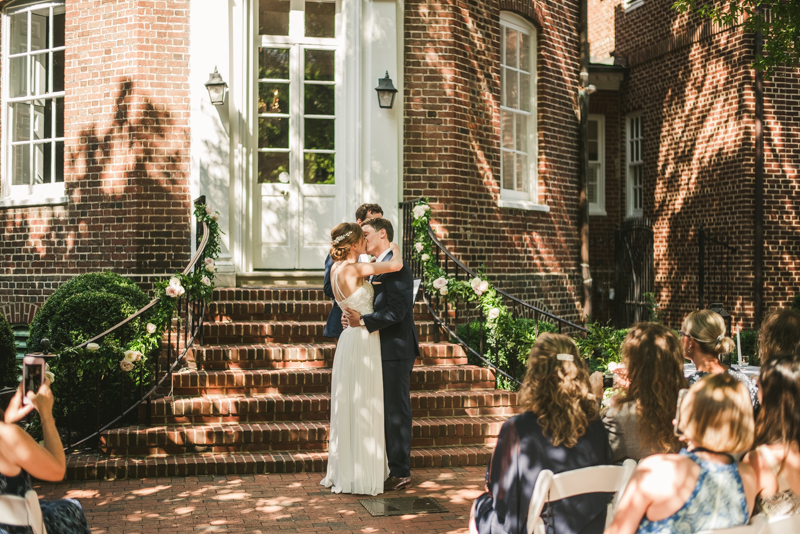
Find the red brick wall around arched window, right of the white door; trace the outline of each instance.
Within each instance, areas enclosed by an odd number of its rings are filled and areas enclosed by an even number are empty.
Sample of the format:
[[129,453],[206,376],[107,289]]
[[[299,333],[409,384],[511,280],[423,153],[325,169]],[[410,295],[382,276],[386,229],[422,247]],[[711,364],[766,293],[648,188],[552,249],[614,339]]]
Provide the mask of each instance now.
[[[538,27],[539,202],[498,208],[500,11]],[[430,197],[435,225],[471,268],[577,318],[578,2],[412,0],[405,15],[404,196]]]

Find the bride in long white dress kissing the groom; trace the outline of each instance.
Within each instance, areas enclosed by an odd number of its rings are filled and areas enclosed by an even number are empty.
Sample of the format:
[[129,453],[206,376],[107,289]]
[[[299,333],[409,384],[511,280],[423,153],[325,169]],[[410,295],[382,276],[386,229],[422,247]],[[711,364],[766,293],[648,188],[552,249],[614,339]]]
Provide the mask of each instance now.
[[[394,243],[393,258],[358,262],[366,252],[361,226],[341,223],[331,231],[331,285],[336,302],[361,315],[373,312],[372,275],[403,268]],[[383,377],[380,334],[351,325],[342,332],[333,357],[328,472],[321,484],[335,493],[378,495],[389,476],[383,433]]]

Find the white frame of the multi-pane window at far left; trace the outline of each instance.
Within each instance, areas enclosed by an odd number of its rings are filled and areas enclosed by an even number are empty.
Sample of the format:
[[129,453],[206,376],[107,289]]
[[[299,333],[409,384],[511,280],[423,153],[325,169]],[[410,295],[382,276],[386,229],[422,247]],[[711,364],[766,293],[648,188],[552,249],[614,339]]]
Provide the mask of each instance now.
[[[58,205],[58,204],[66,204],[67,197],[65,196],[65,188],[64,188],[64,181],[62,182],[51,182],[48,184],[20,184],[20,185],[12,185],[13,184],[13,176],[12,176],[12,145],[11,145],[11,128],[10,128],[10,114],[9,114],[9,107],[11,104],[18,102],[18,101],[25,101],[30,100],[30,97],[18,97],[11,99],[9,97],[9,88],[10,88],[10,66],[11,61],[9,60],[8,51],[11,47],[11,15],[15,15],[22,12],[30,12],[30,11],[38,11],[41,9],[53,8],[54,10],[64,10],[64,0],[47,0],[47,1],[37,1],[37,2],[18,2],[14,3],[3,10],[3,20],[2,20],[2,32],[3,32],[3,39],[2,39],[2,47],[3,47],[3,55],[2,55],[2,122],[3,122],[3,129],[2,129],[2,185],[0,186],[0,208],[14,208],[14,207],[25,207],[25,206],[42,206],[42,205]],[[50,25],[50,31],[52,32],[52,25]],[[29,32],[30,33],[30,32]],[[52,38],[52,33],[51,36]],[[30,44],[30,35],[28,37],[29,44]],[[52,42],[52,41],[51,41]],[[66,43],[65,43],[66,45]],[[50,48],[48,56],[52,59],[52,52],[58,52],[61,50],[66,50],[66,46],[64,47],[54,47]],[[49,59],[49,61],[51,61]],[[53,72],[53,65],[52,61],[49,65],[50,72]],[[30,76],[31,68],[30,66],[27,69],[28,75]],[[65,76],[66,78],[66,76]],[[52,77],[51,77],[52,79]],[[66,79],[65,79],[66,83]],[[49,91],[42,95],[44,98],[55,100],[56,98],[64,99],[65,91],[58,91],[52,92]],[[63,105],[63,104],[62,104]],[[51,132],[52,134],[53,132]],[[62,141],[64,142],[65,137],[49,137],[50,142],[53,141]],[[66,147],[65,147],[65,155],[66,155]],[[55,153],[51,155],[53,165],[55,165]],[[62,171],[63,172],[63,171]]]

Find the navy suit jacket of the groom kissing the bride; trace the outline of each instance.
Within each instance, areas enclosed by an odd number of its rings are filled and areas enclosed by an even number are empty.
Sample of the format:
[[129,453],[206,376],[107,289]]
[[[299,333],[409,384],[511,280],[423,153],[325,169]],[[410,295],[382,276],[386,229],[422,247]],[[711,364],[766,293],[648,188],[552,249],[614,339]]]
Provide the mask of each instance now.
[[[383,261],[392,259],[392,253]],[[374,312],[364,315],[367,330],[381,333],[381,359],[405,360],[419,357],[419,337],[414,324],[414,277],[408,263],[395,273],[372,278]]]

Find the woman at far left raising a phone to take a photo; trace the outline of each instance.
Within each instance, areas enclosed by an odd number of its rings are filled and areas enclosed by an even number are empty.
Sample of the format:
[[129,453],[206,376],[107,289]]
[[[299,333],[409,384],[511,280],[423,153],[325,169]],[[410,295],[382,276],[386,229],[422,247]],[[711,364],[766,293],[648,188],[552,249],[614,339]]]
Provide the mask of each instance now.
[[[22,404],[22,384],[11,399],[0,422],[0,493],[24,497],[31,489],[31,475],[39,480],[59,482],[64,478],[67,462],[61,438],[53,421],[53,393],[50,383],[39,388],[36,395],[28,392],[31,404]],[[36,443],[24,430],[15,425],[36,409],[42,422],[44,447]],[[78,501],[39,501],[42,519],[47,532],[54,534],[89,533],[86,516]],[[29,533],[28,527],[0,524],[0,534]]]

